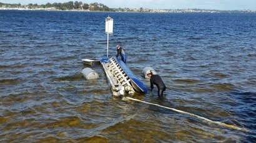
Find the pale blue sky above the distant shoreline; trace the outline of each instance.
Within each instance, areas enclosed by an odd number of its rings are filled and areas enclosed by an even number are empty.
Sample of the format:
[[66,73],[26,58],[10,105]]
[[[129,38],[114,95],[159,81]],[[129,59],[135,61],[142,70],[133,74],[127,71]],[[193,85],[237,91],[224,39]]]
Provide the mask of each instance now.
[[98,2],[110,8],[256,10],[256,0],[0,0],[2,3],[22,5],[69,1]]

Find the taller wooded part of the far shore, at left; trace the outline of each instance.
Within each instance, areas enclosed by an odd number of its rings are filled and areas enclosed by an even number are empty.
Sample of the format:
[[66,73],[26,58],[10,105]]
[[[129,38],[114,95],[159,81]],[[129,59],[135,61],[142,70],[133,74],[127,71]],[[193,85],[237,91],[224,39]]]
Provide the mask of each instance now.
[[58,10],[89,10],[89,11],[114,11],[114,9],[110,9],[106,5],[102,3],[91,3],[87,4],[81,1],[69,1],[64,3],[57,3],[54,2],[51,4],[50,2],[47,2],[47,4],[28,4],[26,6],[19,4],[4,4],[0,2],[0,7],[6,6],[11,8],[28,8],[28,9],[36,9],[36,8],[49,8],[49,7],[55,7]]

